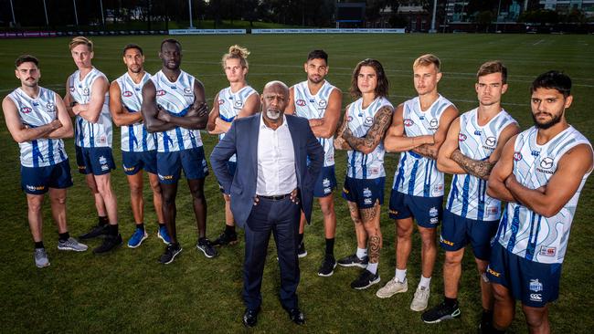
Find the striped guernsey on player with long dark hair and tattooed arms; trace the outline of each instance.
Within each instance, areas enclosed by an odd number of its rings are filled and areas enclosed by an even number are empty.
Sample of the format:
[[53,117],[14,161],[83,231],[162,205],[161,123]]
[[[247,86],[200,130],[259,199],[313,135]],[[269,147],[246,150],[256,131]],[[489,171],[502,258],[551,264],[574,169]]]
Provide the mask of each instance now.
[[[392,103],[386,98],[378,97],[366,109],[363,109],[363,98],[357,99],[346,110],[348,129],[353,132],[355,137],[365,137],[374,122],[377,111],[386,106],[393,108]],[[369,154],[355,150],[347,151],[346,176],[360,180],[385,177],[385,153],[386,150],[384,149],[383,141],[380,141],[376,149]]]

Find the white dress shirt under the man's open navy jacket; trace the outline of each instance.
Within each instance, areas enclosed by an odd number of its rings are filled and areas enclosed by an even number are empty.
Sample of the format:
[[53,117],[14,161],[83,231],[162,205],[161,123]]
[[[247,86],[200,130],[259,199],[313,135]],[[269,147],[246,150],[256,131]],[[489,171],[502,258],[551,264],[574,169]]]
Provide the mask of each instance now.
[[287,118],[282,115],[282,125],[277,130],[272,130],[266,126],[260,115],[256,194],[276,196],[291,193],[295,188],[295,152]]

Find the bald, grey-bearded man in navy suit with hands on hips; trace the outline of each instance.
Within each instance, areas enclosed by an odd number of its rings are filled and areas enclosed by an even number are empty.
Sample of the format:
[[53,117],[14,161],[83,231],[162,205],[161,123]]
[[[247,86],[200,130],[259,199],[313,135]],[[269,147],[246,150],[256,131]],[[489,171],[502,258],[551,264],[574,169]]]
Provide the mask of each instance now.
[[[262,112],[234,120],[210,156],[210,163],[231,197],[231,211],[245,229],[243,324],[253,327],[260,311],[262,273],[270,233],[274,234],[281,266],[281,304],[298,325],[305,323],[297,301],[297,258],[301,210],[309,223],[313,183],[324,160],[324,149],[307,120],[284,115],[289,89],[271,81],[260,97]],[[227,162],[237,154],[235,176]]]

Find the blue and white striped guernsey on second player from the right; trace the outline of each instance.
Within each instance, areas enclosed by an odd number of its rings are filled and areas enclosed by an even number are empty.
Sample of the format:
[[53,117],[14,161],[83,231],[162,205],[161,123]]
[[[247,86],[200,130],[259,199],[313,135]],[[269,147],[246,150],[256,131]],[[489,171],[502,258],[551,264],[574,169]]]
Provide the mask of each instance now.
[[[463,155],[474,160],[488,160],[499,142],[499,135],[510,124],[517,123],[505,110],[480,126],[478,109],[461,114],[458,146]],[[454,174],[446,208],[452,214],[479,220],[496,221],[501,202],[487,195],[487,182],[471,174]]]

